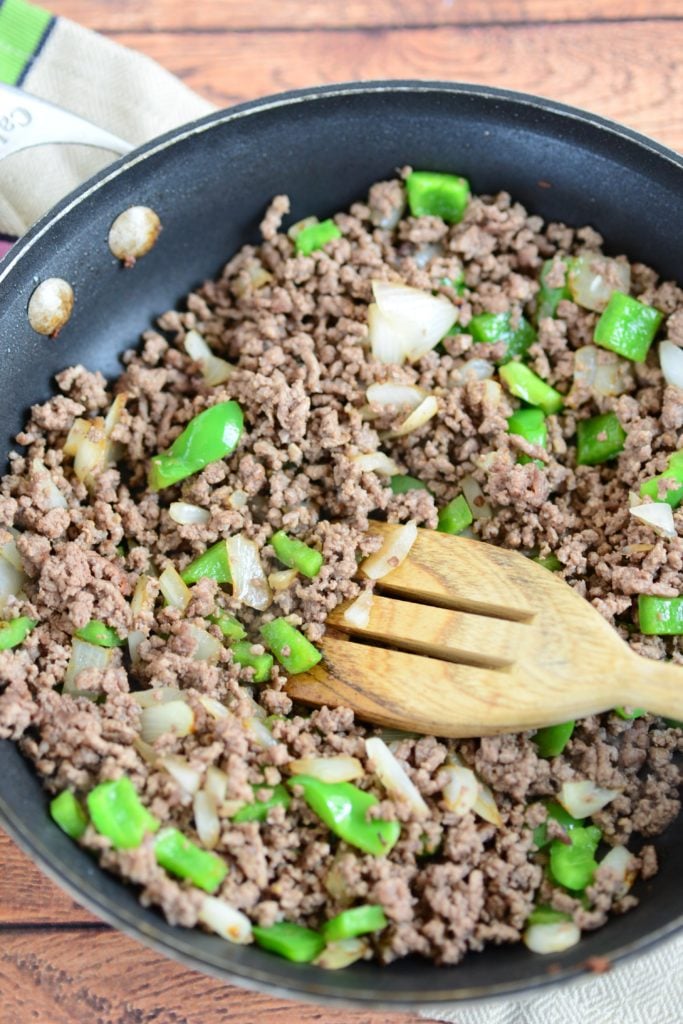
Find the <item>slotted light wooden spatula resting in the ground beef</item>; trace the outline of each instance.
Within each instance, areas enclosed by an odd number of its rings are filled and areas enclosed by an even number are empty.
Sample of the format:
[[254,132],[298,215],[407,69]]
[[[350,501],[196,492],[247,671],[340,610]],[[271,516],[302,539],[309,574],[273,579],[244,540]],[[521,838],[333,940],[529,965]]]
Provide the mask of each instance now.
[[419,529],[376,584],[368,626],[349,627],[343,612],[330,615],[324,660],[290,679],[290,696],[437,736],[522,731],[620,705],[683,719],[682,668],[634,654],[555,573],[492,544]]

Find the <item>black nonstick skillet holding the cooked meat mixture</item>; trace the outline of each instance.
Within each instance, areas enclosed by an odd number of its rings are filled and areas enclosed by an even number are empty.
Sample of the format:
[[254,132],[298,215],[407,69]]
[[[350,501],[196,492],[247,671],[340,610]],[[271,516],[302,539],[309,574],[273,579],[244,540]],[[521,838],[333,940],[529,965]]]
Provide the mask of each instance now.
[[[292,221],[323,218],[404,164],[463,174],[475,193],[505,188],[546,219],[592,224],[606,252],[683,278],[683,160],[594,115],[521,93],[410,81],[326,86],[245,103],[113,164],[0,263],[0,451],[11,447],[27,408],[49,396],[59,370],[82,362],[116,376],[120,353],[158,314],[215,275],[242,245],[258,241],[273,195],[291,197]],[[155,209],[163,231],[148,255],[124,269],[106,237],[131,205]],[[65,278],[76,294],[56,339],[34,333],[27,319],[28,300],[48,276]],[[635,955],[683,925],[681,816],[656,840],[660,871],[636,890],[639,907],[553,957],[552,971],[548,957],[519,945],[469,954],[453,968],[411,958],[325,972],[171,928],[57,829],[33,768],[8,741],[0,741],[0,824],[80,903],[190,968],[279,995],[433,1010],[519,997],[585,974],[588,957]]]

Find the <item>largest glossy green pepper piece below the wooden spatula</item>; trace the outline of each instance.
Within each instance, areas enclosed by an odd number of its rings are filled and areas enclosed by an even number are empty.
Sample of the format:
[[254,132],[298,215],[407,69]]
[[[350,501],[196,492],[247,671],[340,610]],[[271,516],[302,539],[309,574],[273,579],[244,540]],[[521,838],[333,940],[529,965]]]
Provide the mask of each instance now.
[[323,782],[311,775],[292,775],[289,787],[301,786],[311,811],[336,836],[364,853],[382,857],[395,846],[400,835],[397,821],[367,820],[368,811],[379,801],[372,793],[351,782]]

